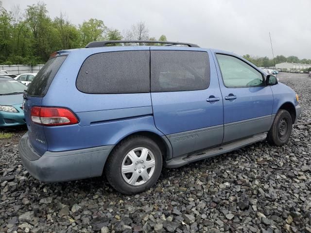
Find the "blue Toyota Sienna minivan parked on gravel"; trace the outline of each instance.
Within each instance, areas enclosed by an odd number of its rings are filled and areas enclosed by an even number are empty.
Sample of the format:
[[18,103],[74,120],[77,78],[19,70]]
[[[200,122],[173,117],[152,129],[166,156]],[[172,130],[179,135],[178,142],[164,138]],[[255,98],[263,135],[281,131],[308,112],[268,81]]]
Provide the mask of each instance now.
[[162,167],[265,139],[281,146],[301,113],[276,76],[231,52],[179,42],[55,52],[23,97],[19,154],[30,174],[62,182],[105,173],[123,194],[150,188]]

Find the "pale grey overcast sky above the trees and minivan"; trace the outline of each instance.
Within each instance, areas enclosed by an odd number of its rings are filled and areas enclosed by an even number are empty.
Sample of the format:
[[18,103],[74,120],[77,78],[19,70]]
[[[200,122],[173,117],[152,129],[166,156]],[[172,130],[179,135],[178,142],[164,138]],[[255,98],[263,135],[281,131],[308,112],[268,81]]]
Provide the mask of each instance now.
[[[37,0],[2,0],[10,10]],[[66,13],[70,21],[97,18],[120,31],[142,20],[150,36],[170,41],[272,58],[311,59],[311,0],[43,0],[50,17]]]

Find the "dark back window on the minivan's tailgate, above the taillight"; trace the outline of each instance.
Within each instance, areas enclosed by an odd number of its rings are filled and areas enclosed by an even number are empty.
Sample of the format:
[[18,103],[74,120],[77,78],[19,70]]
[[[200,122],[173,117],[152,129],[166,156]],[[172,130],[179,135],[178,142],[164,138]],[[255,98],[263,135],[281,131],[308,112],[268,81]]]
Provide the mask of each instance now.
[[58,69],[62,66],[67,56],[56,56],[51,58],[35,76],[30,83],[27,95],[45,96]]

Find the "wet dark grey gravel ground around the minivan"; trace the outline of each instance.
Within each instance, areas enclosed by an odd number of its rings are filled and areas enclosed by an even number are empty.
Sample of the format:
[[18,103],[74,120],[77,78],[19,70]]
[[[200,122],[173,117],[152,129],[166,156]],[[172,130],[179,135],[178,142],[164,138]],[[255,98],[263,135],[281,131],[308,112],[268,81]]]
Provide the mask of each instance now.
[[21,165],[17,142],[0,139],[0,232],[311,233],[311,78],[279,74],[303,113],[283,147],[261,142],[164,169],[135,196],[95,178],[41,183]]

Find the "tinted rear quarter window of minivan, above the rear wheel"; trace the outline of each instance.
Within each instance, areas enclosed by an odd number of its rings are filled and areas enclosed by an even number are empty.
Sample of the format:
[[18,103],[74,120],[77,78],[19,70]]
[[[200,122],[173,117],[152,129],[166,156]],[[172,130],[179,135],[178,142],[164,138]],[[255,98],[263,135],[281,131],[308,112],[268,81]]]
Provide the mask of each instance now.
[[145,93],[149,77],[149,51],[103,52],[86,59],[76,85],[91,94]]

